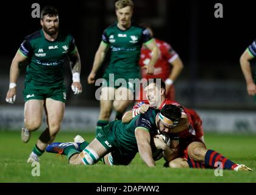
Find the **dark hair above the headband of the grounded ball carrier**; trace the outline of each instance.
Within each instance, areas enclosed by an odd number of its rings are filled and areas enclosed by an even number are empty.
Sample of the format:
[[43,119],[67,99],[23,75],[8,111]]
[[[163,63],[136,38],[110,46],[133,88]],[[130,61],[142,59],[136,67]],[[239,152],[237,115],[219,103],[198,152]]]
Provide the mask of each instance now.
[[172,121],[179,121],[182,115],[180,107],[173,104],[165,105],[161,109],[160,113],[166,118],[171,119]]

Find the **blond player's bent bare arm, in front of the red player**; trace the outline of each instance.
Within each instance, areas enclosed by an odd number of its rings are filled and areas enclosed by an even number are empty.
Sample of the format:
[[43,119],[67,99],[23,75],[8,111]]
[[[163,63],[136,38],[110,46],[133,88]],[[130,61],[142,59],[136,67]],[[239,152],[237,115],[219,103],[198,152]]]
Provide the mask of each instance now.
[[153,74],[154,73],[154,65],[158,60],[159,57],[159,49],[157,47],[157,43],[155,43],[154,38],[149,40],[148,42],[144,43],[144,45],[151,50],[151,60],[148,65],[145,65],[141,68],[147,69],[147,74]]

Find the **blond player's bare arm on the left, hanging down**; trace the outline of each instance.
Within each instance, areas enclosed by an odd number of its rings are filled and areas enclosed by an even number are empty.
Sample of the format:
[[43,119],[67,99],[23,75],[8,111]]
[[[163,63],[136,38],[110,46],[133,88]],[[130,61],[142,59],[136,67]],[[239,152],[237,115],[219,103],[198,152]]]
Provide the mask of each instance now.
[[94,56],[94,62],[93,62],[93,68],[91,69],[91,73],[88,76],[88,83],[94,83],[95,82],[95,76],[96,73],[99,69],[99,67],[101,67],[102,62],[105,59],[105,55],[107,54],[107,50],[108,50],[108,44],[105,43],[104,41],[101,41],[101,44],[99,44],[99,48]]

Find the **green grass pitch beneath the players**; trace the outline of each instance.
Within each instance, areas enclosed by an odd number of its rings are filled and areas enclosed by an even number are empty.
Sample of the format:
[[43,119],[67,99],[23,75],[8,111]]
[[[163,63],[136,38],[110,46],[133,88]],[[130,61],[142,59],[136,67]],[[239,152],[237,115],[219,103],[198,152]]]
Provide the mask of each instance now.
[[[73,141],[77,132],[60,132],[55,141]],[[94,133],[79,132],[91,141]],[[0,182],[97,182],[97,183],[173,183],[173,182],[256,182],[256,171],[223,171],[216,177],[213,169],[148,168],[137,154],[129,166],[106,166],[102,162],[93,166],[68,165],[66,157],[45,152],[40,157],[40,176],[32,176],[27,158],[39,137],[32,133],[29,143],[20,139],[20,131],[0,131]],[[243,163],[256,170],[256,135],[230,135],[206,133],[208,149],[214,149],[235,163]]]

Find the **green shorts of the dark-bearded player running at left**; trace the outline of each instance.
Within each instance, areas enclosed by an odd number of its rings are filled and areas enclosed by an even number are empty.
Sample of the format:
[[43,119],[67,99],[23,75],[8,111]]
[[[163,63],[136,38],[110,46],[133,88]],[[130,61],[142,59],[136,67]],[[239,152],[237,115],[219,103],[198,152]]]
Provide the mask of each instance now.
[[61,85],[49,85],[41,86],[36,83],[29,82],[25,83],[25,88],[23,90],[24,101],[29,101],[30,99],[40,99],[44,100],[46,98],[51,98],[56,101],[66,102],[66,88],[63,84]]

